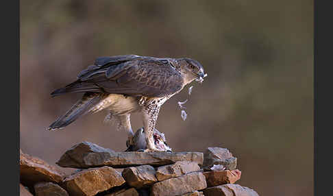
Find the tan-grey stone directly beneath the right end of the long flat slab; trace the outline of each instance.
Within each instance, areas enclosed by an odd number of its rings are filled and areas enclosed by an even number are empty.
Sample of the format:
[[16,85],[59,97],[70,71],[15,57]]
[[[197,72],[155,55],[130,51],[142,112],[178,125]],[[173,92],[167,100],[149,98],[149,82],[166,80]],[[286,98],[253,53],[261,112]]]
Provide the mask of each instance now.
[[175,164],[158,167],[158,169],[156,169],[156,177],[158,181],[162,181],[199,170],[200,167],[196,162],[177,161]]

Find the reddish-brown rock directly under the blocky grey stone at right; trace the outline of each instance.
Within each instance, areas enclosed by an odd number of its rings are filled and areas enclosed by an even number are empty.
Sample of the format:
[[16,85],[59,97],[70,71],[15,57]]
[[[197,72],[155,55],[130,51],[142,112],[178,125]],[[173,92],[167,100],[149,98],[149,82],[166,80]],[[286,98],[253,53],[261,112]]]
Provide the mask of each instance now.
[[234,184],[240,179],[241,171],[236,170],[223,170],[223,171],[206,171],[204,175],[207,180],[207,186],[218,186],[221,184]]

